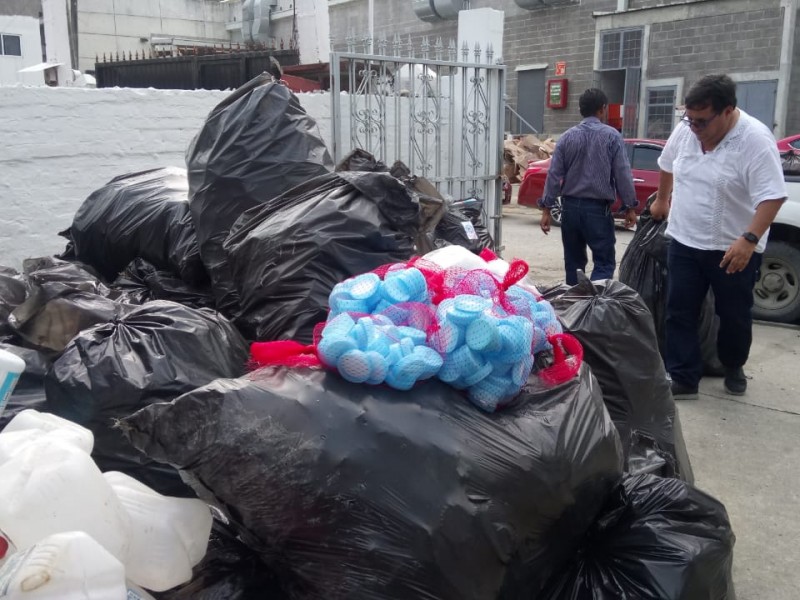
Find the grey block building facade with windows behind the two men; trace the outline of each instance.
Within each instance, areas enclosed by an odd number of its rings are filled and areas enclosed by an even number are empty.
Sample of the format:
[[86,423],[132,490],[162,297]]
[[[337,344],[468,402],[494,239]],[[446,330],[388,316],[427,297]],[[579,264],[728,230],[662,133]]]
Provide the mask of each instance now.
[[[708,73],[731,75],[740,106],[777,137],[800,131],[798,0],[373,2],[375,37],[400,34],[417,42],[457,35],[452,18],[422,20],[426,6],[504,11],[507,103],[522,117],[508,120],[513,133],[566,130],[580,118],[581,92],[597,86],[619,111],[626,136],[664,138],[689,86]],[[369,4],[328,2],[334,47],[365,35]],[[559,101],[547,96],[554,87],[566,98],[561,108],[548,106]]]

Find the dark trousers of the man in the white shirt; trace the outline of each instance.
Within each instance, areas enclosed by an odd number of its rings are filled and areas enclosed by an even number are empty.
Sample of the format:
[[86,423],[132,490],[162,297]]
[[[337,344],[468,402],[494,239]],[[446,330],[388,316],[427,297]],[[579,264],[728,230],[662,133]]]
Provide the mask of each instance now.
[[719,316],[717,352],[725,367],[742,367],[753,340],[753,286],[761,255],[753,253],[743,271],[721,269],[724,252],[696,250],[672,240],[669,246],[665,363],[673,381],[695,387],[703,376],[698,322],[708,287]]

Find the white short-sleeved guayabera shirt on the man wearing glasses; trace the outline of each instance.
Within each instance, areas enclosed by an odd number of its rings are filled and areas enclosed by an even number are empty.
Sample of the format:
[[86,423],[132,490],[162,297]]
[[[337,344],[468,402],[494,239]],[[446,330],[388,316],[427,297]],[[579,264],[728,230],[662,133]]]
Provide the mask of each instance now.
[[[719,145],[703,153],[681,122],[670,135],[658,166],[673,175],[667,235],[699,250],[727,250],[750,225],[764,200],[786,198],[778,148],[767,127],[740,110]],[[769,230],[756,252],[763,252]]]

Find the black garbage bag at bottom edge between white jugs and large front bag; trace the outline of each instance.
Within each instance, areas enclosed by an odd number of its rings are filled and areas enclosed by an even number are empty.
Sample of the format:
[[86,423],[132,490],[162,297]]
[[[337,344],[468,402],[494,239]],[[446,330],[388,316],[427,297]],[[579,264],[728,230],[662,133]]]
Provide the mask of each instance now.
[[236,538],[229,525],[214,519],[208,550],[192,580],[157,594],[158,600],[283,600],[284,595],[261,557]]

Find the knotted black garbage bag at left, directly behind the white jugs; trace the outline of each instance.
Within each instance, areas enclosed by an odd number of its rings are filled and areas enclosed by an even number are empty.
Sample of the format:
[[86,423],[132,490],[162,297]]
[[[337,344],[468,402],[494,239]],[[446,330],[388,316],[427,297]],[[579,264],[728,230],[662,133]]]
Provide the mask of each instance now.
[[220,377],[244,373],[248,347],[221,315],[163,300],[134,307],[76,336],[45,379],[49,412],[91,429],[102,471],[122,471],[156,491],[190,494],[174,469],[153,464],[115,420]]

